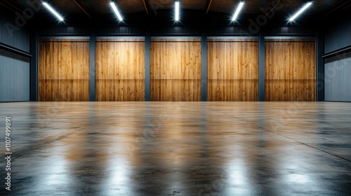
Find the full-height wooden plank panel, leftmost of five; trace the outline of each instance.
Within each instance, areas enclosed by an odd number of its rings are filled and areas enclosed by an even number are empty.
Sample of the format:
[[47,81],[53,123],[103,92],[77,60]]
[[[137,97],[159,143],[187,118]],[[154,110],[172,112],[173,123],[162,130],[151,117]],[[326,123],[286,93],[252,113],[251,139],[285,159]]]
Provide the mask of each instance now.
[[39,102],[89,101],[88,39],[39,41]]

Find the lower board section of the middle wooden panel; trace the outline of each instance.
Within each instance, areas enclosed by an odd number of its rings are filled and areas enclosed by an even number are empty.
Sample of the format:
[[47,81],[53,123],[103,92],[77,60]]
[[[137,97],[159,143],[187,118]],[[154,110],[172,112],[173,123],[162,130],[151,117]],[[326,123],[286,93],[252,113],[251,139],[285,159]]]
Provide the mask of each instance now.
[[201,101],[201,80],[151,80],[150,85],[151,101]]

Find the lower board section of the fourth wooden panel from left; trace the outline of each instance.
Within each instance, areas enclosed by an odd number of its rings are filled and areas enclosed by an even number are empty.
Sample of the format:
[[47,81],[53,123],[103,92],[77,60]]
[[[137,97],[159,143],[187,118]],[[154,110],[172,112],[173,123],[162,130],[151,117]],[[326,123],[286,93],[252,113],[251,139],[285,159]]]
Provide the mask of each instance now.
[[258,80],[208,80],[208,102],[257,102]]

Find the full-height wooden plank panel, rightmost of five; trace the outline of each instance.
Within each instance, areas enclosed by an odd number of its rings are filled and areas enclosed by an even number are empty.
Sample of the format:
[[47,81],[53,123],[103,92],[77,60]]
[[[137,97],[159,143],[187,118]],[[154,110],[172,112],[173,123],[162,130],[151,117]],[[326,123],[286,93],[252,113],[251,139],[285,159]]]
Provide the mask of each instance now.
[[265,40],[265,101],[315,101],[314,39]]

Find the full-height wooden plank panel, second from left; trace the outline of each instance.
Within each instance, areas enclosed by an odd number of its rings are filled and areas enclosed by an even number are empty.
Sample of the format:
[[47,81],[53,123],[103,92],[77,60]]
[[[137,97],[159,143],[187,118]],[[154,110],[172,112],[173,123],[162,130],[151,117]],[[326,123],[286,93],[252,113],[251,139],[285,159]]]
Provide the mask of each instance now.
[[144,39],[97,39],[96,101],[145,101]]

